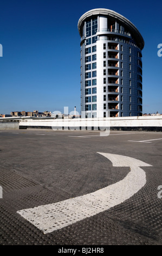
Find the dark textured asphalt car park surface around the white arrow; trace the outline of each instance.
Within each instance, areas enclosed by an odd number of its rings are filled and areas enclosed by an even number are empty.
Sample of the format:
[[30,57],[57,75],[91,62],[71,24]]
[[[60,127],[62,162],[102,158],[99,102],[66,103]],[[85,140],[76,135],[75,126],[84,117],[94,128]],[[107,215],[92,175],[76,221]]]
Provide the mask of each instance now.
[[[1,130],[0,142],[0,245],[162,244],[161,132]],[[123,203],[48,234],[17,213],[101,190],[128,175],[129,167],[114,167],[99,152],[150,164],[141,167],[146,184]]]

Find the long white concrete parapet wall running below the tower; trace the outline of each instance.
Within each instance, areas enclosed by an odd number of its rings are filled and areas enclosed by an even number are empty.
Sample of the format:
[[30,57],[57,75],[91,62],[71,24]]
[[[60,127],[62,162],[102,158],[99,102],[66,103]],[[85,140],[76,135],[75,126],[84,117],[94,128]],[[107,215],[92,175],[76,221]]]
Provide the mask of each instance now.
[[47,128],[53,130],[157,130],[162,131],[162,117],[115,117],[115,118],[74,118],[74,119],[23,119],[20,129]]

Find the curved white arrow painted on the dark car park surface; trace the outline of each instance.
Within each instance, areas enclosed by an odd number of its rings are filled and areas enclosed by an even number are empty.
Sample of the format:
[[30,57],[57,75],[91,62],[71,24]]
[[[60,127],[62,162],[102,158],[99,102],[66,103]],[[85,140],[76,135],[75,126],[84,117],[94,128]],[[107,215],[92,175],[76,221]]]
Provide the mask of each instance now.
[[151,166],[150,164],[128,156],[98,154],[109,159],[113,166],[130,167],[131,171],[123,180],[93,193],[17,213],[46,234],[121,204],[146,184],[146,175],[140,166]]

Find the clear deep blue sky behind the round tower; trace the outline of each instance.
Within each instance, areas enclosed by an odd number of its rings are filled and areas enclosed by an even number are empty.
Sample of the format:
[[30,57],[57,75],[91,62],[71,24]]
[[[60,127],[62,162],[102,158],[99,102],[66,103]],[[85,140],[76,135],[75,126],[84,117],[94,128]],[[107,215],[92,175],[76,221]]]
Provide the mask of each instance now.
[[162,2],[0,1],[0,114],[11,111],[80,112],[80,35],[86,11],[106,8],[130,20],[145,41],[143,113],[162,113]]

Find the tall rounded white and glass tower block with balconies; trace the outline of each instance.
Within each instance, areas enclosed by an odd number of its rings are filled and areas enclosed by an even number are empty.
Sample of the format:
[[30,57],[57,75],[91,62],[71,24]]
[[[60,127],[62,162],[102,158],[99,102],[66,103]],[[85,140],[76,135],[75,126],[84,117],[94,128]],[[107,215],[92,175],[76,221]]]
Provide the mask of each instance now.
[[144,40],[124,16],[90,10],[78,22],[81,36],[81,112],[86,117],[142,115]]

